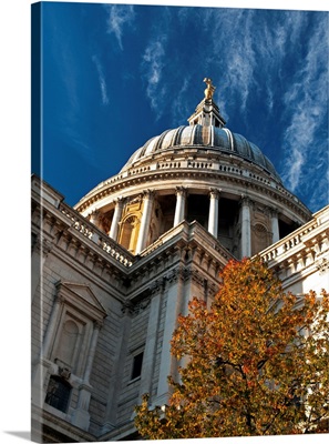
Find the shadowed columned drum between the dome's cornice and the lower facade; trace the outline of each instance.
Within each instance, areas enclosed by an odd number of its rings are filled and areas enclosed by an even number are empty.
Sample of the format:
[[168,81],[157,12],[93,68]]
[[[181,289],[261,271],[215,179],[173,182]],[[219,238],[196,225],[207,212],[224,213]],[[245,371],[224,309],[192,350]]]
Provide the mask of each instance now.
[[[243,196],[246,195],[246,188],[227,186],[225,183],[223,183],[222,188],[218,186],[220,183],[215,180],[203,183],[194,179],[193,183],[191,182],[191,178],[187,178],[185,181],[181,180],[178,186],[178,182],[174,185],[172,181],[171,183],[161,181],[157,186],[152,186],[146,191],[141,185],[140,192],[136,186],[132,186],[131,190],[126,190],[125,193],[121,190],[120,195],[119,193],[109,195],[107,199],[104,198],[101,202],[96,202],[100,209],[97,211],[102,213],[103,218],[102,224],[99,225],[99,228],[111,235],[112,226],[117,225],[119,229],[115,240],[132,253],[137,254],[183,220],[187,222],[197,221],[208,231],[210,231],[209,225],[212,221],[212,226],[215,228],[210,233],[215,235],[232,254],[241,258],[243,255],[247,255],[247,253],[251,255],[260,251],[254,250],[253,245],[260,245],[263,246],[261,250],[268,246],[257,241],[260,234],[264,242],[266,240],[268,244],[275,241],[273,238],[274,231],[270,229],[273,223],[277,224],[278,232],[287,233],[297,228],[296,220],[298,220],[299,223],[302,220],[300,216],[297,218],[296,213],[287,211],[287,206],[280,202],[277,202],[277,205],[274,206],[274,199],[271,195],[259,195],[259,193],[248,190],[249,223],[253,224],[253,221],[257,221],[260,214],[263,225],[267,226],[267,229],[266,235],[260,233],[259,230],[253,232],[250,245],[247,248],[247,251],[241,251],[241,201]],[[142,221],[144,214],[146,214],[145,193],[148,191],[152,192],[147,198],[147,230],[145,230],[144,234],[141,234]],[[116,196],[116,200],[113,201],[114,196]],[[121,200],[121,214],[115,218],[119,199]],[[217,215],[215,216],[212,214],[212,201],[214,199],[217,209]],[[273,215],[274,213],[277,213],[276,216]],[[273,218],[276,222],[273,222]],[[117,222],[114,222],[115,219]],[[105,226],[107,228],[106,230]],[[282,235],[284,234],[279,235],[279,238]],[[144,242],[141,243],[141,250],[136,250],[137,239],[140,236],[144,238]]]

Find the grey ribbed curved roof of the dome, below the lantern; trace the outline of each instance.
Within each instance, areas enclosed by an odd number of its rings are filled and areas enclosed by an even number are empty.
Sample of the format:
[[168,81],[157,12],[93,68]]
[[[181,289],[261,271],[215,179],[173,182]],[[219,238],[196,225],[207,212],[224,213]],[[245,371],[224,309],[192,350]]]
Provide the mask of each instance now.
[[166,130],[136,150],[121,171],[133,168],[136,163],[150,159],[154,154],[163,154],[166,150],[197,148],[212,150],[223,154],[235,154],[266,170],[277,181],[281,182],[273,163],[260,149],[240,134],[233,133],[227,128],[215,125],[183,125]]

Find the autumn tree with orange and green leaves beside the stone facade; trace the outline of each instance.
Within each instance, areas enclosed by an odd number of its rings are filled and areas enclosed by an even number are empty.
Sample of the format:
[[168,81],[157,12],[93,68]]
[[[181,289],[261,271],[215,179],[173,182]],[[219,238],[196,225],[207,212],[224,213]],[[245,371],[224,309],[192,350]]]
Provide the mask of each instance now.
[[[313,433],[329,415],[328,293],[282,291],[260,259],[229,262],[208,309],[179,316],[168,405],[136,407],[146,438]],[[326,422],[327,421],[327,422]],[[326,430],[325,426],[325,431]]]

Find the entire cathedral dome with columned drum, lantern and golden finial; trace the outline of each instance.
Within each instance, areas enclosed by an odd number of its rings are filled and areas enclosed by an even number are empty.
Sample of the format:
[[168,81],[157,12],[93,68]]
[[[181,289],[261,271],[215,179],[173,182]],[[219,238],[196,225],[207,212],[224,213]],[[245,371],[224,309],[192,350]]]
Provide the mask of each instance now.
[[160,245],[183,221],[196,221],[240,259],[309,219],[261,150],[226,128],[215,87],[205,83],[188,124],[147,140],[75,205],[133,254]]

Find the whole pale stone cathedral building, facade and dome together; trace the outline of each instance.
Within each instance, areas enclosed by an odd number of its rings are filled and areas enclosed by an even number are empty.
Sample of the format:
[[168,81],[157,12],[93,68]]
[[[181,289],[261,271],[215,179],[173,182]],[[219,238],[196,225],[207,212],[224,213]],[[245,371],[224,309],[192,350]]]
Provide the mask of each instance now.
[[300,296],[328,283],[329,208],[311,216],[259,149],[223,129],[212,98],[189,123],[74,209],[32,176],[35,441],[135,438],[134,406],[146,392],[164,404],[177,373],[178,314],[193,296],[210,304],[228,260],[260,252]]

